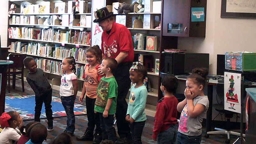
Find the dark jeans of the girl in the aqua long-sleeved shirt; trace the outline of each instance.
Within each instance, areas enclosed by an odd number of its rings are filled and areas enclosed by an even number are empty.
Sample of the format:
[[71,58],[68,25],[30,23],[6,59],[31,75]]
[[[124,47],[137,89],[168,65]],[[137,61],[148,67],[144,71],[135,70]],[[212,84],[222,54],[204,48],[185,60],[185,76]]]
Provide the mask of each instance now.
[[130,124],[130,130],[132,132],[132,143],[141,144],[141,135],[146,121],[133,122]]

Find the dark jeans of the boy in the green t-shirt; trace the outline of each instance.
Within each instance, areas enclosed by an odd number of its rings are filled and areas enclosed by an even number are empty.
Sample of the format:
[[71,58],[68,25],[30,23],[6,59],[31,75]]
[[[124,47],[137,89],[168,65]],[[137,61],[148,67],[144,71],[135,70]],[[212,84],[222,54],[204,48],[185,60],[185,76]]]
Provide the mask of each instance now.
[[103,117],[102,113],[98,112],[100,116],[100,127],[102,130],[102,140],[112,140],[116,142],[115,129],[114,126],[114,115],[108,115],[108,117]]

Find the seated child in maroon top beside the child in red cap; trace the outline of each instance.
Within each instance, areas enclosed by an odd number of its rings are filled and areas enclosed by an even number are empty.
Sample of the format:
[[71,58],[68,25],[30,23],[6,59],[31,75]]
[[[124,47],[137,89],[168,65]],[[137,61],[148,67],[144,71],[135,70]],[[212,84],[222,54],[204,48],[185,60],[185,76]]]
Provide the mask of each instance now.
[[38,122],[30,122],[28,123],[26,126],[22,125],[20,128],[20,132],[21,132],[21,137],[18,140],[17,144],[25,144],[26,142],[28,142],[29,138],[29,134],[31,129],[36,126],[37,124],[40,124]]

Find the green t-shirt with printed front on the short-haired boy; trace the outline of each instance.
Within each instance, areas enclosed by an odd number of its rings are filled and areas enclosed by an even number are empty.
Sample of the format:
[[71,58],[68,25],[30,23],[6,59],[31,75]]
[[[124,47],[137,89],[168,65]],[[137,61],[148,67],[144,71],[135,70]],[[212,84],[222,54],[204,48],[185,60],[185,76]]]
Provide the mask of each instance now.
[[114,115],[116,113],[117,90],[118,85],[114,76],[109,78],[105,78],[105,76],[102,77],[97,88],[97,98],[95,101],[94,110],[103,113],[108,99],[114,98],[108,110],[108,115]]

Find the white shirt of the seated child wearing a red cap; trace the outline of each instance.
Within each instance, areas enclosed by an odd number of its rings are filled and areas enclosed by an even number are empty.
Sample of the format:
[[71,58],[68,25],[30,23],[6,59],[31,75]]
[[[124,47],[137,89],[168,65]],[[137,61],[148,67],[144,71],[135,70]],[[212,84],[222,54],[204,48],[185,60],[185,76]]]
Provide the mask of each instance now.
[[21,133],[18,128],[5,127],[0,133],[0,143],[1,144],[12,144],[12,140],[18,141],[20,139]]

